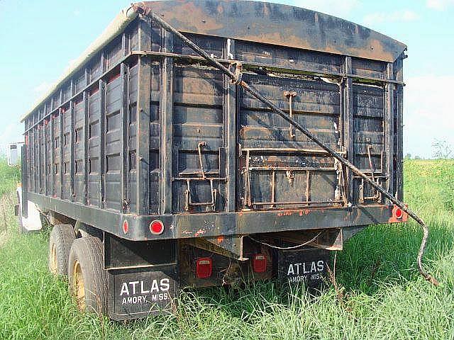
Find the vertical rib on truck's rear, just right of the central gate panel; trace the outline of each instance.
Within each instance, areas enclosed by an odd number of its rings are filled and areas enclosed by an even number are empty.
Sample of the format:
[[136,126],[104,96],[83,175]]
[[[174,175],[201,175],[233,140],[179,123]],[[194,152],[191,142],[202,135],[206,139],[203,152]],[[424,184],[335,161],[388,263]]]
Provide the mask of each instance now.
[[[352,58],[345,57],[343,64],[343,72],[345,74],[352,74]],[[347,152],[348,162],[355,162],[355,155],[353,154],[353,81],[347,77],[343,83],[343,146]],[[353,203],[353,172],[350,169],[346,170],[345,181],[347,182],[347,200]]]

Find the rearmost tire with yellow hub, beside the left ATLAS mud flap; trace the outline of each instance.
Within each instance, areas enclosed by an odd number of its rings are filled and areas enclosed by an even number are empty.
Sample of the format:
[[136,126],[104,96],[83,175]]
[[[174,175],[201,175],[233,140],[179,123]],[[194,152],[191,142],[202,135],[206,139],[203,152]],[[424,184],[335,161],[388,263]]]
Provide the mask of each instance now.
[[79,310],[107,314],[108,280],[100,239],[82,237],[72,243],[68,278]]

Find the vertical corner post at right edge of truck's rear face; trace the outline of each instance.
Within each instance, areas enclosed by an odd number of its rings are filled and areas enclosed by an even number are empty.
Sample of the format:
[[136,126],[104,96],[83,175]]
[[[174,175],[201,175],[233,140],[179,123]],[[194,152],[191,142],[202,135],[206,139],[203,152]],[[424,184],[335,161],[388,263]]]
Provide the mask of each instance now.
[[[387,63],[384,71],[387,79],[394,78],[392,63]],[[386,164],[387,185],[386,189],[394,193],[394,84],[387,83],[384,92],[384,157]],[[382,169],[384,171],[384,169]]]

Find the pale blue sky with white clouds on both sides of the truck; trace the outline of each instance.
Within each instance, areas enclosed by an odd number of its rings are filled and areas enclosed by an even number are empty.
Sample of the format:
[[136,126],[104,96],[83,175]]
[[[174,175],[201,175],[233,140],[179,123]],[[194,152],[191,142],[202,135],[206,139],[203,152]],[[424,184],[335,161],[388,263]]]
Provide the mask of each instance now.
[[[0,150],[21,116],[131,1],[0,0]],[[404,153],[454,147],[454,0],[273,0],[359,23],[404,42]]]

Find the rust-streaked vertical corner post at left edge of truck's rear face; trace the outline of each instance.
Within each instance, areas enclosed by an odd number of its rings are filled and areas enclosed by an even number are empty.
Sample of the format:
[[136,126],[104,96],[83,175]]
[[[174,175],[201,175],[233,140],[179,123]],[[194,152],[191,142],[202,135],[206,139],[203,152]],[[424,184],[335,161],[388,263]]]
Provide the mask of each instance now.
[[[151,49],[151,25],[139,21],[139,50]],[[138,59],[137,116],[137,213],[148,215],[150,208],[150,91],[151,61]]]

